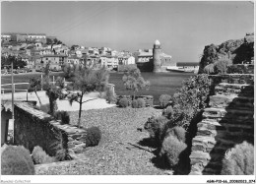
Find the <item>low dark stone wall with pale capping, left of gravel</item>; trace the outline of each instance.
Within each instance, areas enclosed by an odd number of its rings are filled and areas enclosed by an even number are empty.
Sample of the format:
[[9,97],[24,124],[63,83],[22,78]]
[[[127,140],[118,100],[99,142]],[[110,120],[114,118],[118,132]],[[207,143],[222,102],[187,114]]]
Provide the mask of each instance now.
[[61,151],[66,158],[74,158],[85,148],[86,131],[72,125],[61,125],[49,114],[34,109],[26,102],[15,103],[15,145],[23,145],[32,152],[41,147],[50,156]]

